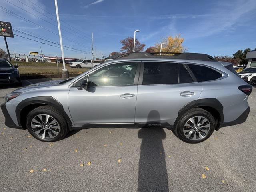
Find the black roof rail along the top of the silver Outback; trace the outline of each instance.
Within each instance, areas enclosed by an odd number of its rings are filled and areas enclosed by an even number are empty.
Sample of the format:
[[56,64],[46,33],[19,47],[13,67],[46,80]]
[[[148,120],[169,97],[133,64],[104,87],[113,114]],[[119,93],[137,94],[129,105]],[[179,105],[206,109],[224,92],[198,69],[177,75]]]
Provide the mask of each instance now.
[[[162,54],[170,54],[171,52],[162,52]],[[126,53],[117,57],[121,58],[168,58],[168,59],[187,59],[187,60],[201,60],[201,61],[217,61],[210,55],[202,53],[172,53],[174,55],[156,55],[157,53],[148,53],[148,52],[135,52],[135,53]]]

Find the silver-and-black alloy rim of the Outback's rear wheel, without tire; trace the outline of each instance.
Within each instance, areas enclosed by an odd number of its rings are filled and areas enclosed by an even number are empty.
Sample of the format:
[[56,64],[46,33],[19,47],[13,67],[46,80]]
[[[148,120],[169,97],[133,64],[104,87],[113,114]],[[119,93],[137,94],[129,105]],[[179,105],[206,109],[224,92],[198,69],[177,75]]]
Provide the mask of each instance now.
[[199,140],[207,136],[210,131],[210,121],[203,116],[190,118],[183,127],[183,133],[190,140]]

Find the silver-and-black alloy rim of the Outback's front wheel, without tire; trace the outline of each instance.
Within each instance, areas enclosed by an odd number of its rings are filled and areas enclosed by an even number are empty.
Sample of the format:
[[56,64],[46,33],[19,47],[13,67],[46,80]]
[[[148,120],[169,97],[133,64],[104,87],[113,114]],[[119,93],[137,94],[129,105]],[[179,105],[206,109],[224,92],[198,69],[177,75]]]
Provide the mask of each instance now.
[[60,133],[58,121],[48,114],[36,115],[31,121],[31,128],[44,139],[54,138]]

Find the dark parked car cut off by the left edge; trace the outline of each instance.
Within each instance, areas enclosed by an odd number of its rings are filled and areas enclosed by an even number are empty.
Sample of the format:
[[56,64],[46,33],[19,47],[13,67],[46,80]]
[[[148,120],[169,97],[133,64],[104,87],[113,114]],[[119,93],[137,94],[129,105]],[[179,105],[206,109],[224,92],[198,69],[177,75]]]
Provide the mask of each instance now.
[[21,85],[18,65],[13,66],[8,60],[0,58],[0,84]]

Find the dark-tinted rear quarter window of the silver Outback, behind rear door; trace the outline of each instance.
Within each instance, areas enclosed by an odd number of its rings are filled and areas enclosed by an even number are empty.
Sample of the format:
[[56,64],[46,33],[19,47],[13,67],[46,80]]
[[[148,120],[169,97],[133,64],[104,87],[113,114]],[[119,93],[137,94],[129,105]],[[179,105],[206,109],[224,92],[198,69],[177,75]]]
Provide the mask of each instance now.
[[216,70],[213,70],[209,67],[194,64],[187,65],[193,72],[194,76],[196,77],[196,80],[199,82],[216,80],[222,77],[222,74],[220,72],[217,72]]

